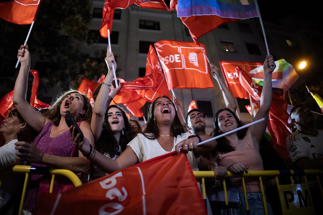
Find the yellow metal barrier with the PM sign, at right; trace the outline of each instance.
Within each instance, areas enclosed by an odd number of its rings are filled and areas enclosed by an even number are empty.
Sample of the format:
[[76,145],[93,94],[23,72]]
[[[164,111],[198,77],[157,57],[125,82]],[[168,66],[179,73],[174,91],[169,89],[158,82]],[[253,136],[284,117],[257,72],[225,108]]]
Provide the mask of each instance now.
[[[204,201],[206,200],[206,191],[205,191],[205,182],[204,182],[204,178],[214,178],[214,172],[213,171],[193,171],[195,178],[201,178],[202,179],[202,186],[203,186],[203,199]],[[316,175],[316,179],[318,181],[318,186],[321,192],[321,195],[323,197],[323,190],[322,190],[322,186],[319,180],[318,175],[323,175],[323,170],[318,170],[318,169],[308,169],[308,170],[264,170],[264,171],[248,171],[248,173],[244,173],[243,175],[236,175],[231,173],[230,171],[228,171],[228,176],[227,178],[242,178],[242,184],[243,184],[243,190],[244,190],[244,195],[245,195],[245,204],[246,204],[246,210],[247,210],[247,214],[249,214],[249,206],[248,206],[248,199],[247,199],[247,193],[246,193],[246,189],[245,189],[245,179],[246,177],[258,177],[259,178],[259,182],[260,182],[260,187],[261,187],[261,192],[262,192],[262,197],[263,197],[263,202],[264,202],[264,209],[265,209],[265,214],[268,215],[267,212],[267,207],[266,207],[266,200],[265,200],[265,193],[264,193],[264,189],[263,189],[263,183],[262,183],[262,177],[276,177],[276,183],[277,183],[277,188],[278,188],[278,193],[279,193],[279,199],[280,199],[280,203],[281,203],[281,207],[282,207],[282,211],[283,211],[283,215],[287,215],[287,214],[295,214],[295,210],[290,210],[291,213],[288,213],[286,208],[284,207],[285,205],[288,205],[288,202],[291,202],[290,200],[293,199],[294,197],[292,197],[291,194],[288,194],[290,196],[290,198],[287,198],[286,195],[286,191],[284,192],[282,189],[284,189],[285,187],[283,186],[288,186],[288,185],[279,185],[278,182],[278,176],[290,176],[291,185],[294,185],[294,180],[293,180],[293,176],[304,176],[305,179],[305,184],[300,184],[300,185],[305,185],[305,188],[307,188],[308,190],[308,197],[309,197],[309,202],[310,205],[313,206],[313,201],[308,189],[308,184],[307,184],[307,178],[306,175]],[[224,199],[225,199],[225,206],[226,206],[226,210],[227,210],[227,214],[229,215],[229,203],[228,203],[228,197],[227,197],[227,191],[226,191],[226,184],[225,184],[225,180],[222,181],[222,185],[224,188]],[[289,185],[289,186],[291,186]],[[285,188],[286,189],[286,188]],[[298,187],[298,189],[300,189]],[[300,190],[297,190],[297,192]],[[306,191],[307,192],[307,191]],[[298,197],[301,196],[301,199],[303,199],[303,195],[302,193],[296,193],[295,195],[298,195]],[[285,198],[282,198],[282,196],[285,196]],[[285,202],[284,202],[285,200]],[[307,201],[307,196],[305,195],[305,200]],[[284,205],[285,204],[285,205]],[[302,204],[300,202],[300,204]],[[306,203],[307,204],[307,203]],[[287,208],[289,209],[289,208]],[[299,209],[299,208],[298,208]],[[307,210],[308,214],[314,214],[311,211],[314,211],[314,208],[312,207],[311,210]],[[302,214],[303,212],[301,212]]]

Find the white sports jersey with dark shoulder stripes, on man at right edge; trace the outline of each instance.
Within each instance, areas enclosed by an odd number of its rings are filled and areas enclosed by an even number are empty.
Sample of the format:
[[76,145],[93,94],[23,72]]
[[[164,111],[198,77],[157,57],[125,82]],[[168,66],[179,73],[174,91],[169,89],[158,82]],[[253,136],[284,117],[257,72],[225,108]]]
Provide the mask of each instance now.
[[288,136],[286,147],[293,163],[304,157],[309,160],[323,158],[323,130],[317,129],[317,131],[318,134],[315,136],[299,130]]

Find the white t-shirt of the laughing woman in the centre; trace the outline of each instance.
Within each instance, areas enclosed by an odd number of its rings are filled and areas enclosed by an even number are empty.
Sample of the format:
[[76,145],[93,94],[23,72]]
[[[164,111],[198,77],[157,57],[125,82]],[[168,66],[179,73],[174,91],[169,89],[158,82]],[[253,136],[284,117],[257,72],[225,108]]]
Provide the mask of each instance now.
[[[189,132],[177,135],[171,151],[165,151],[158,143],[157,139],[148,139],[140,133],[137,135],[137,137],[133,138],[127,146],[132,148],[132,150],[136,153],[139,162],[142,162],[175,151],[176,144],[184,139],[187,139],[191,135],[193,134]],[[197,167],[196,158],[192,151],[187,153],[187,158],[191,164],[192,170],[198,171],[199,169]]]

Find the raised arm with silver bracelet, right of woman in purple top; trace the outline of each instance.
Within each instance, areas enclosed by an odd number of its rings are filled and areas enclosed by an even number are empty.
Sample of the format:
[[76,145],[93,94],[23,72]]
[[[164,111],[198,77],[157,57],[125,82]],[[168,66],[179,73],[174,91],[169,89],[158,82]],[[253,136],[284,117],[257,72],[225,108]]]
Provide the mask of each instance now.
[[102,129],[105,108],[106,106],[109,106],[110,102],[112,101],[112,98],[116,95],[118,90],[121,88],[120,84],[118,88],[114,88],[113,86],[111,86],[111,91],[109,92],[110,86],[108,85],[111,85],[111,81],[113,78],[112,65],[114,64],[114,68],[117,68],[117,64],[114,59],[113,53],[112,52],[110,53],[109,51],[109,46],[107,48],[107,56],[105,60],[108,62],[109,71],[101,86],[97,99],[95,100],[93,115],[91,119],[91,129],[92,129],[95,141],[97,141],[101,136],[101,129]]

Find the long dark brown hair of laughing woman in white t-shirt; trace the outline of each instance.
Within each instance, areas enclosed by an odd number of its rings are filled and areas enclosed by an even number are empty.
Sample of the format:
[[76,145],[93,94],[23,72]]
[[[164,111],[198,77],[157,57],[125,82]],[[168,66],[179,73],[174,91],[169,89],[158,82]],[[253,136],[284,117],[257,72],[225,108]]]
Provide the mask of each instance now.
[[[167,96],[162,96],[164,98],[169,99],[171,102],[172,100],[167,97]],[[162,97],[158,97],[154,100],[154,102],[150,105],[149,111],[148,111],[148,120],[147,120],[147,125],[146,128],[143,130],[142,134],[148,138],[148,139],[157,139],[159,137],[159,129],[157,126],[154,125],[154,109],[155,109],[155,103],[157,101],[157,99],[162,98]],[[172,105],[175,108],[174,103],[172,102]],[[176,110],[176,108],[175,108]],[[178,118],[177,112],[175,111],[175,118],[172,122],[172,127],[170,130],[170,135],[173,137],[176,137],[179,134],[184,133],[185,130],[183,128],[183,125],[180,121],[180,119]],[[151,135],[149,134],[151,133]]]

